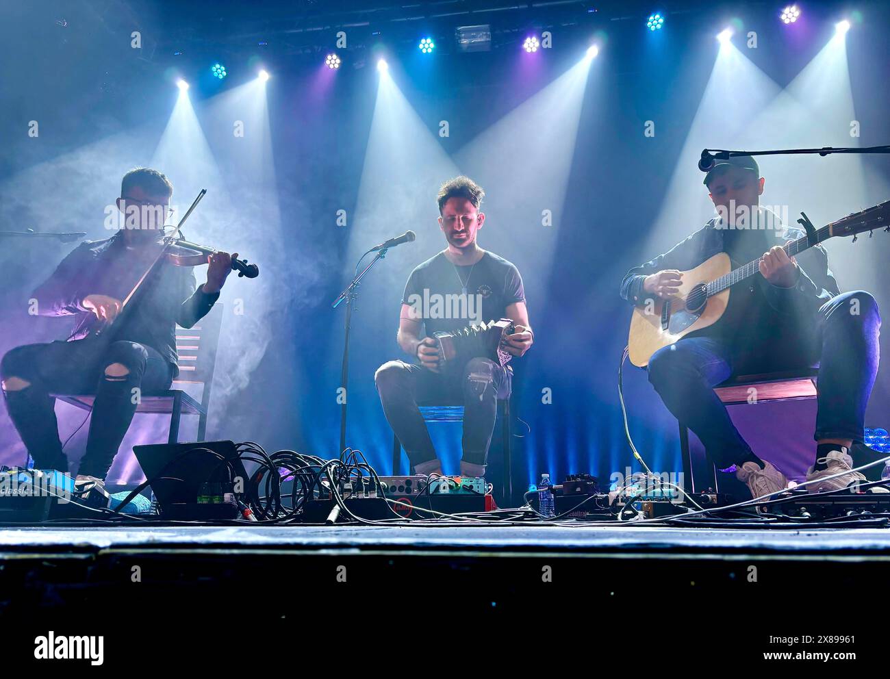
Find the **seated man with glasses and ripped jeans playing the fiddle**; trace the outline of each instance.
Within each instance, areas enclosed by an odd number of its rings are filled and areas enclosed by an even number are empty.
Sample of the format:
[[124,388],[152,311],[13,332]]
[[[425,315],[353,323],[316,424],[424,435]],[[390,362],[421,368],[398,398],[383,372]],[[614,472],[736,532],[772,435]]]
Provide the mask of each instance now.
[[9,415],[37,469],[69,468],[51,394],[95,394],[77,481],[104,481],[133,420],[137,395],[168,389],[179,373],[175,324],[193,326],[220,295],[231,255],[208,256],[201,287],[191,268],[161,260],[114,322],[121,300],[160,252],[172,196],[173,184],[157,170],[126,173],[116,201],[123,228],[75,248],[32,295],[39,315],[77,321],[68,341],[16,347],[0,362]]

